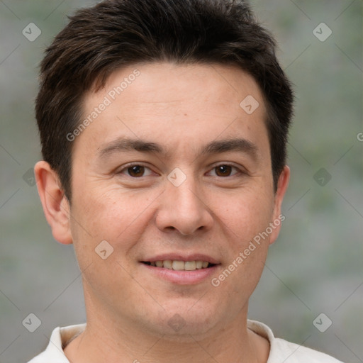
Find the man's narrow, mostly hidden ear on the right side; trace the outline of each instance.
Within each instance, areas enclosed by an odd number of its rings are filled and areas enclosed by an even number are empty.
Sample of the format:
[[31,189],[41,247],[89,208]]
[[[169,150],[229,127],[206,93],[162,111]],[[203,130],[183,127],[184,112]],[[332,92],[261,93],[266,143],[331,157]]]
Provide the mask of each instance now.
[[290,168],[285,165],[284,170],[279,176],[279,181],[277,183],[277,191],[274,198],[274,213],[272,219],[272,233],[269,238],[269,243],[272,244],[277,240],[280,232],[281,223],[285,220],[285,216],[281,213],[281,204],[286,193],[287,186],[290,180]]

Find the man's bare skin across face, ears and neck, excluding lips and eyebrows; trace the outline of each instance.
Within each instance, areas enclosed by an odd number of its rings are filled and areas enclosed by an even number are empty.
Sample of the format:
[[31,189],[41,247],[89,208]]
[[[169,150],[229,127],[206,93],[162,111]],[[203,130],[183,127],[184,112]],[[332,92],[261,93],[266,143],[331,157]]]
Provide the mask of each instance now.
[[[35,165],[52,233],[74,244],[82,270],[87,326],[65,354],[72,363],[267,362],[269,343],[247,329],[247,308],[279,227],[218,287],[211,284],[279,218],[289,183],[286,166],[274,192],[259,86],[233,66],[134,65],[86,94],[84,116],[135,68],[135,81],[74,140],[71,205],[49,164]],[[240,107],[248,95],[259,102],[250,115]],[[99,156],[121,137],[160,144],[168,154]],[[255,155],[199,154],[228,138],[248,140]],[[130,162],[145,166],[145,176],[123,169]],[[226,176],[216,168],[225,164],[233,166]],[[174,168],[186,176],[180,186],[167,179]],[[113,247],[107,259],[95,252],[102,240]],[[177,284],[140,262],[169,252],[201,253],[218,266],[199,283]],[[168,324],[175,314],[184,324],[178,331]]]

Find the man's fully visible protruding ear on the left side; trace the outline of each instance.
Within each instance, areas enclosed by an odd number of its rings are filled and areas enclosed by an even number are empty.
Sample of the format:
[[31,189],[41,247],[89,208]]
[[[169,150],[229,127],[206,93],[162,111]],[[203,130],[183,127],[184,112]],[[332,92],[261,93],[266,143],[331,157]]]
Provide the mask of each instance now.
[[52,228],[53,237],[65,245],[72,243],[69,202],[60,187],[57,173],[48,162],[40,161],[35,164],[34,174],[45,218]]

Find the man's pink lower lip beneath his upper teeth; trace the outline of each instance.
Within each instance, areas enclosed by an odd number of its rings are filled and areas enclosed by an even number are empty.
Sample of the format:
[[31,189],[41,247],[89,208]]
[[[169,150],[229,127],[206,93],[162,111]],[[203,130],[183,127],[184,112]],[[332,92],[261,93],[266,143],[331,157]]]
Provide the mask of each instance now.
[[206,269],[177,271],[174,269],[164,269],[163,267],[154,267],[143,263],[141,264],[148,270],[148,272],[155,274],[160,279],[164,279],[179,285],[199,284],[201,281],[208,279],[208,277],[211,278],[211,275],[215,274],[216,269],[218,268],[218,265],[215,265]]

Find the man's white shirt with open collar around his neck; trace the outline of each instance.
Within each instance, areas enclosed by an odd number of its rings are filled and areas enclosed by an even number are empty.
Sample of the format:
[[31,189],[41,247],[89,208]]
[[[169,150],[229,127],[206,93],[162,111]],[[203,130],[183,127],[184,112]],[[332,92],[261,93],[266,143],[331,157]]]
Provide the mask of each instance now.
[[[45,351],[28,363],[69,363],[63,347],[72,337],[82,333],[86,324],[55,328]],[[267,363],[342,363],[327,354],[274,337],[272,330],[255,320],[247,320],[247,328],[269,340],[270,352]]]

